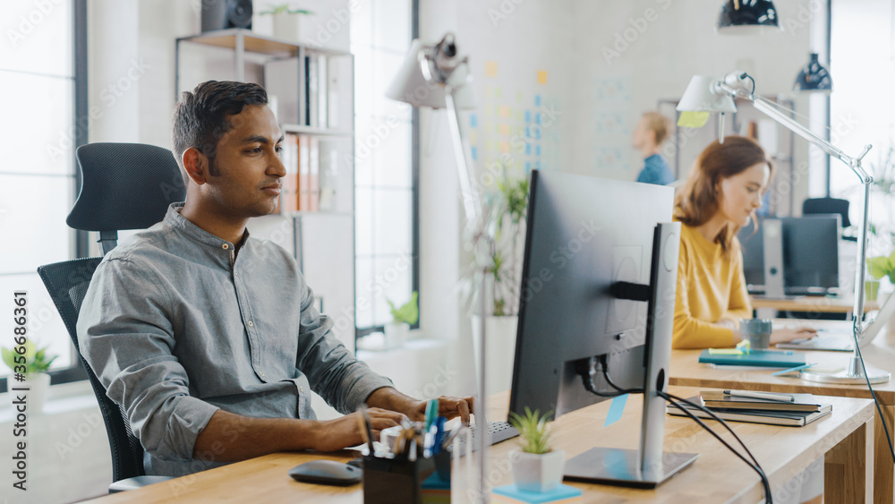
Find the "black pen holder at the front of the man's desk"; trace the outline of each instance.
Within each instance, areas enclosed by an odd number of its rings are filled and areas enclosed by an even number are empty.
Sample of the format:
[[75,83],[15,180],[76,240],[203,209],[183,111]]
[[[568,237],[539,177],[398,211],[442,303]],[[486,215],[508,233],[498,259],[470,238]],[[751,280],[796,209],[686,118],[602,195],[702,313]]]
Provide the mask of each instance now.
[[[363,457],[364,504],[450,501],[450,452],[435,457]],[[436,471],[438,466],[438,471]],[[445,497],[447,496],[447,499]],[[434,499],[433,499],[434,498]]]

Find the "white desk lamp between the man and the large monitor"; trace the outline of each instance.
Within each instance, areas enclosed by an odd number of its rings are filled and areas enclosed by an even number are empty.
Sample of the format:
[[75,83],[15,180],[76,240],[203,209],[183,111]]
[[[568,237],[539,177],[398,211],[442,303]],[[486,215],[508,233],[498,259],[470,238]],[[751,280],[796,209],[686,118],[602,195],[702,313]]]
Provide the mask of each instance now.
[[[403,101],[413,107],[447,108],[447,121],[450,124],[451,140],[454,144],[457,175],[460,178],[460,192],[466,214],[466,238],[473,244],[476,264],[482,268],[482,295],[479,296],[482,314],[486,310],[484,295],[488,280],[488,258],[494,248],[494,242],[485,232],[485,220],[482,216],[482,201],[474,180],[474,167],[468,155],[463,131],[460,127],[460,108],[475,107],[472,89],[468,84],[473,80],[469,72],[468,56],[457,53],[453,33],[447,33],[438,44],[422,44],[419,39],[413,40],[402,62],[400,69],[386,91],[388,98]],[[487,502],[487,475],[485,472],[489,446],[488,423],[485,419],[487,406],[485,401],[485,317],[481,317],[482,338],[479,341],[479,387],[475,399],[475,424],[478,450],[479,489],[477,500]]]

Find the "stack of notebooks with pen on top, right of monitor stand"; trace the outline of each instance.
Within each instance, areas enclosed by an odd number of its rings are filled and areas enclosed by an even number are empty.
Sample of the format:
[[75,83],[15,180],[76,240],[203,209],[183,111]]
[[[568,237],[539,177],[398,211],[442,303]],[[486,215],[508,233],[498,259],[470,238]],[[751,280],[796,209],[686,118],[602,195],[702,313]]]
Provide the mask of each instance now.
[[[811,394],[750,393],[740,390],[705,390],[688,399],[691,403],[705,406],[722,420],[733,422],[770,423],[801,427],[825,414],[832,405],[818,401]],[[711,418],[702,410],[685,406],[687,411],[700,418]],[[677,406],[666,406],[668,414],[686,416]]]

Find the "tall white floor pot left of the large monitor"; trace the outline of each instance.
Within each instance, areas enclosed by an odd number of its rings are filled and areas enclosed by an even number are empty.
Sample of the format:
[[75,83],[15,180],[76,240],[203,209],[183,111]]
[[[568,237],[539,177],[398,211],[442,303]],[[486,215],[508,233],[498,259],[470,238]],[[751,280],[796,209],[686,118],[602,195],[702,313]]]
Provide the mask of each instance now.
[[[482,318],[473,315],[473,355],[475,374],[479,373],[479,337]],[[485,393],[488,395],[509,390],[513,380],[513,359],[516,355],[518,317],[485,317]]]

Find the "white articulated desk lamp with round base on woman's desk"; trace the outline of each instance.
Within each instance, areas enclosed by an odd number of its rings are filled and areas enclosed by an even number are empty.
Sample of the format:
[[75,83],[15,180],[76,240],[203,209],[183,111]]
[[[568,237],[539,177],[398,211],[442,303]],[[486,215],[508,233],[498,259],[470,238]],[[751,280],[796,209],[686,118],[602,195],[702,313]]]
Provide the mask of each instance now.
[[[855,306],[853,312],[855,339],[855,352],[848,361],[848,368],[843,372],[824,373],[824,372],[803,372],[802,378],[809,381],[820,381],[823,383],[843,383],[843,384],[862,384],[867,381],[870,383],[884,383],[889,381],[891,374],[882,370],[865,367],[861,359],[862,343],[869,342],[869,338],[865,338],[867,329],[874,324],[874,320],[864,322],[864,281],[867,259],[867,230],[869,227],[869,208],[870,208],[870,188],[874,183],[874,177],[865,172],[861,166],[861,160],[867,155],[871,149],[871,145],[865,145],[864,149],[857,158],[848,156],[845,152],[833,146],[829,141],[823,140],[813,132],[805,128],[802,124],[798,124],[795,120],[784,115],[771,104],[770,101],[755,95],[754,80],[745,72],[733,72],[725,75],[721,79],[712,77],[703,77],[697,75],[690,80],[687,85],[684,96],[678,104],[678,111],[681,112],[729,112],[731,106],[736,110],[733,104],[733,98],[742,98],[749,100],[756,110],[764,115],[771,117],[774,121],[787,128],[789,131],[796,133],[806,141],[820,147],[824,152],[833,158],[837,158],[845,163],[855,175],[864,184],[864,218],[861,221],[860,235],[858,237],[857,251],[857,273],[855,281]],[[724,141],[723,131],[720,132],[720,141]],[[866,341],[865,341],[866,339]]]

